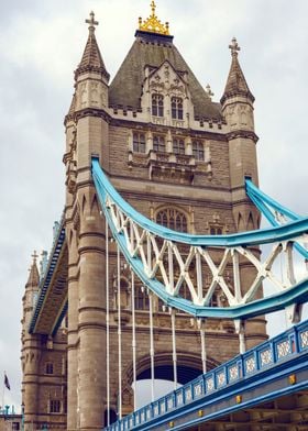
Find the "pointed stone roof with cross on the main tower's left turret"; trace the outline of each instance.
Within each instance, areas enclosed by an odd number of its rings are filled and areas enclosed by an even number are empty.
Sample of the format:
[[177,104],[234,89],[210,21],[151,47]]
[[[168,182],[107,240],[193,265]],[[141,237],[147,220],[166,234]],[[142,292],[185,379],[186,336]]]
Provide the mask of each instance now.
[[98,25],[98,21],[95,21],[95,13],[90,13],[90,19],[86,20],[86,23],[90,24],[89,25],[89,36],[88,41],[82,54],[81,62],[79,63],[76,71],[75,71],[75,78],[78,77],[78,75],[86,73],[86,71],[96,71],[99,74],[102,74],[107,80],[109,80],[110,75],[108,74],[102,56],[100,54],[97,40],[95,36],[95,25]]

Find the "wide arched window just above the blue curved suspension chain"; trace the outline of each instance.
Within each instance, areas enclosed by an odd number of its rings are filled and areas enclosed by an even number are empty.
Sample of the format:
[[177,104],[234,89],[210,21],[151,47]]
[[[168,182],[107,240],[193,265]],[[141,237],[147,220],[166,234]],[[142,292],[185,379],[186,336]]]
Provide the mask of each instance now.
[[[189,232],[189,226],[190,226],[189,214],[187,213],[187,211],[183,210],[177,206],[158,207],[154,213],[154,220],[156,223],[165,228],[172,229],[176,232],[185,232],[185,233]],[[183,223],[183,220],[185,220],[185,223]],[[180,228],[184,226],[185,229],[177,229],[178,228],[177,223],[180,224]]]

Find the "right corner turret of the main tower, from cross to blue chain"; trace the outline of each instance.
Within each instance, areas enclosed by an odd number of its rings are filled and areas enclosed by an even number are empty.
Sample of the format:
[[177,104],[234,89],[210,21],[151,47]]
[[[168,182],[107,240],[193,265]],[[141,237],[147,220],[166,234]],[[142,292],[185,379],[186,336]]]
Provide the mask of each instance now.
[[230,186],[233,200],[233,214],[238,231],[257,229],[260,216],[245,194],[245,177],[255,184],[257,178],[256,148],[257,136],[254,132],[254,114],[252,95],[241,69],[238,53],[241,49],[237,38],[229,45],[231,49],[231,67],[221,98],[222,113],[229,133]]

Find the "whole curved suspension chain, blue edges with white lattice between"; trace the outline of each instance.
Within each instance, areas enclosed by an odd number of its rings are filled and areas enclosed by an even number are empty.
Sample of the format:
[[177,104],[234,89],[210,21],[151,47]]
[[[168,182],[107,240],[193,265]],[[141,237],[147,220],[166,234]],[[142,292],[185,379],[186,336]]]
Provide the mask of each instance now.
[[[130,207],[96,159],[92,174],[105,216],[123,255],[142,283],[166,305],[198,317],[246,319],[283,308],[289,312],[293,302],[307,300],[308,274],[306,270],[296,278],[293,255],[296,242],[307,241],[308,219],[231,235],[178,233]],[[268,243],[273,247],[261,262],[257,247]],[[306,250],[305,253],[308,258]],[[275,270],[277,261],[285,255],[286,279]],[[250,265],[254,272],[250,284],[241,281],[242,265]],[[264,280],[276,294],[260,299]]]

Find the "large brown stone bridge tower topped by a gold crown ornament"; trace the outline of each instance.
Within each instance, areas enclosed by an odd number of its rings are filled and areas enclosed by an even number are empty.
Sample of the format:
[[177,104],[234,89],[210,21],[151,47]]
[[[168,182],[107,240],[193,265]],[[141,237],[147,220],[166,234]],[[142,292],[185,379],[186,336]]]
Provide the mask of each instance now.
[[[119,192],[138,211],[160,224],[182,232],[212,235],[258,228],[258,212],[246,198],[244,189],[245,176],[257,183],[257,136],[253,121],[254,97],[239,64],[239,45],[233,38],[230,45],[232,63],[226,90],[221,102],[213,102],[211,92],[201,87],[176,48],[168,23],[163,24],[157,19],[154,2],[151,7],[150,18],[144,21],[140,19],[132,47],[111,84],[96,38],[98,22],[92,12],[89,20],[86,20],[89,25],[88,40],[75,71],[75,93],[65,118],[67,248],[59,265],[66,268],[68,299],[64,360],[67,374],[63,374],[65,385],[54,401],[59,401],[57,413],[62,415],[66,424],[54,420],[55,411],[51,411],[51,399],[48,401],[46,398],[51,395],[47,391],[40,393],[43,397],[40,407],[33,405],[33,411],[28,409],[33,395],[30,394],[30,382],[25,378],[24,371],[25,430],[30,429],[31,421],[35,422],[36,428],[42,428],[47,422],[55,429],[66,427],[68,430],[95,430],[106,423],[107,236],[91,177],[92,156],[99,158]],[[109,245],[109,255],[108,323],[112,410],[109,415],[112,417],[119,398],[119,286],[114,278],[114,244]],[[123,345],[121,397],[124,415],[131,411],[133,402],[130,309],[132,279],[122,259],[120,270]],[[178,268],[175,267],[174,270]],[[252,272],[249,265],[243,265],[240,277],[244,281],[245,277],[251,278]],[[223,298],[217,300],[223,301]],[[140,378],[144,378],[151,366],[148,298],[138,280],[134,303],[138,373]],[[170,319],[158,300],[154,300],[153,307],[156,376],[168,378],[173,364]],[[177,317],[176,330],[178,382],[185,383],[202,372],[200,332],[196,322],[183,314]],[[208,369],[239,352],[238,334],[232,322],[208,320],[205,330]],[[47,349],[47,342],[51,346],[48,362],[53,363],[53,354],[55,357],[59,355],[59,349],[52,346],[52,341],[58,340],[59,331],[47,339],[46,334],[29,335],[31,340],[38,340],[35,347],[38,365],[43,361],[40,352],[42,346]],[[264,338],[264,320],[253,319],[246,332],[248,347],[260,343]],[[44,340],[47,340],[45,344]],[[25,342],[23,349],[28,349]],[[32,391],[36,391],[37,397],[43,375],[40,372],[36,374]],[[53,376],[50,375],[48,378],[52,383]],[[64,407],[66,405],[67,412]],[[53,405],[53,408],[57,406]],[[36,416],[31,417],[34,413]]]

